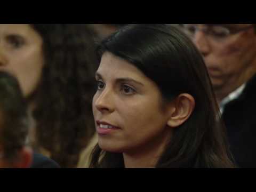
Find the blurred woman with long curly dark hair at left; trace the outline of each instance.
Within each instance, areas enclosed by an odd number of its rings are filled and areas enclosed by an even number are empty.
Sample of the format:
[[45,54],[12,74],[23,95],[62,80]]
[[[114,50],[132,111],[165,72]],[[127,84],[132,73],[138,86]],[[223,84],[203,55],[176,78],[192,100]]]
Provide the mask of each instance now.
[[1,24],[0,63],[14,74],[34,119],[30,141],[61,167],[76,167],[95,133],[95,50],[86,25]]

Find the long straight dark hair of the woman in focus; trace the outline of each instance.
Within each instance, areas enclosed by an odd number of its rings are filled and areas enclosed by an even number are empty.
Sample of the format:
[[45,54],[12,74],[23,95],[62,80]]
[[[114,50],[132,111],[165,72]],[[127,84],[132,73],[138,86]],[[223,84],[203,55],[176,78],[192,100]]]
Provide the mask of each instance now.
[[[167,25],[130,25],[105,39],[99,59],[110,52],[154,81],[171,102],[188,93],[196,101],[191,117],[175,129],[156,167],[234,167],[217,101],[201,54],[185,34]],[[122,154],[95,147],[91,167],[124,167]]]

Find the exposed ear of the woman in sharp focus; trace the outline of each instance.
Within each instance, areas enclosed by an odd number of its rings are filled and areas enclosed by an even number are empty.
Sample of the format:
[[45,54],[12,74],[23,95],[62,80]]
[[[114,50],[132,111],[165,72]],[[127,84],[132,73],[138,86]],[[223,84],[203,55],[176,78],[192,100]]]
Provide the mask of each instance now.
[[185,123],[195,109],[195,99],[190,94],[180,94],[173,102],[167,125],[178,127]]

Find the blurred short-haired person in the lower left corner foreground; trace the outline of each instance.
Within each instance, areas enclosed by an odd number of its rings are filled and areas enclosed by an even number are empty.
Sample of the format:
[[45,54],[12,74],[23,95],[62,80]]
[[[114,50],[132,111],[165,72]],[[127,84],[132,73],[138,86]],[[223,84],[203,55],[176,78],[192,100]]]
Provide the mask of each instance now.
[[15,77],[0,71],[0,167],[57,168],[49,158],[27,146],[27,105]]

